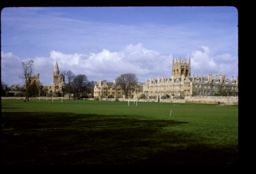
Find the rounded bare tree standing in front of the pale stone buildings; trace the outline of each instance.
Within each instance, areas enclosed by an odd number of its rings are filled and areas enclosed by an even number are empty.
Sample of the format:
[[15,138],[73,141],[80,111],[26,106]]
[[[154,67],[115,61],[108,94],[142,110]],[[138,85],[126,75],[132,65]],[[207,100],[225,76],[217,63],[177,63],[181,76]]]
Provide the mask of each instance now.
[[138,78],[135,74],[127,73],[121,74],[116,78],[116,84],[120,86],[121,89],[125,92],[125,95],[129,95],[129,90],[136,88],[138,83]]

